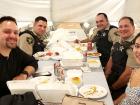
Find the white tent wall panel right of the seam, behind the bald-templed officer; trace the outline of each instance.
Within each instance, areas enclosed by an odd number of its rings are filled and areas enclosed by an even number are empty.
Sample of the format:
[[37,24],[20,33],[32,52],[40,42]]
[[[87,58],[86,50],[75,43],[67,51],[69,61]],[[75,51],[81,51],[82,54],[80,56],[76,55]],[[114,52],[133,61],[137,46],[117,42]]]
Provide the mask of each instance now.
[[124,13],[126,0],[52,0],[54,21],[94,21],[99,12],[107,13],[111,21],[117,21]]

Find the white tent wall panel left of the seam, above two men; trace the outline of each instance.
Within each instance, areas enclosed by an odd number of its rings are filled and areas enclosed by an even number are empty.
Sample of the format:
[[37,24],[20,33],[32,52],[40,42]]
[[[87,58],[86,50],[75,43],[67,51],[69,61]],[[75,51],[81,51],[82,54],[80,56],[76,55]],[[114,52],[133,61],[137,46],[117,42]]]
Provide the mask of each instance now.
[[0,16],[10,15],[17,21],[30,22],[42,15],[50,19],[51,0],[0,0]]

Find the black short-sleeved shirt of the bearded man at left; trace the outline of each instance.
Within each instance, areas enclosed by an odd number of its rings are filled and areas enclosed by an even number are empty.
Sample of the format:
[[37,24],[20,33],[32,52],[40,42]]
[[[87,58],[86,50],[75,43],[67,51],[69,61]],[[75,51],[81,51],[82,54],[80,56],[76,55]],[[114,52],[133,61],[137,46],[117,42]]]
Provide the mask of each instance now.
[[12,49],[9,57],[0,54],[0,97],[9,94],[6,82],[19,75],[26,66],[37,69],[37,61],[34,57],[27,55],[18,47]]

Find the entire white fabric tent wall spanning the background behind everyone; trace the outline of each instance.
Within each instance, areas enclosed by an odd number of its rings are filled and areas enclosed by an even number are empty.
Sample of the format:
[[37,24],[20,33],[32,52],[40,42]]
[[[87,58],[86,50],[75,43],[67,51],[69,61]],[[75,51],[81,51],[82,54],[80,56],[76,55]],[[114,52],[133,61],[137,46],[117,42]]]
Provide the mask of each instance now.
[[125,15],[131,16],[139,27],[139,10],[139,0],[0,0],[0,16],[14,16],[20,26],[39,15],[54,22],[95,24],[96,14],[105,12],[115,24]]

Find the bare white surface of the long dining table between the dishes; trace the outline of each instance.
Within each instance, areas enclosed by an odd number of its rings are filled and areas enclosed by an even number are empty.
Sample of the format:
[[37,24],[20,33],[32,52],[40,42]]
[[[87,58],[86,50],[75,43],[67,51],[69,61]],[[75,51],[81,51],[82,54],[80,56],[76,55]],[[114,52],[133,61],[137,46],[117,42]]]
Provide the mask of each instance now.
[[[90,60],[90,59],[99,60],[99,57],[93,57],[93,58],[87,57],[87,60]],[[39,60],[38,61],[38,65],[39,65],[38,71],[41,71],[43,69],[46,69],[46,70],[54,69],[53,67],[56,62],[58,62],[58,61],[57,60]],[[87,64],[87,62],[86,62],[86,64]],[[84,64],[84,66],[85,66],[85,64]],[[68,69],[69,68],[65,68],[64,70],[67,71]],[[70,69],[72,69],[72,68],[70,68]],[[80,67],[80,69],[81,69],[81,67]],[[103,101],[105,105],[114,105],[102,66],[100,65],[99,67],[88,67],[88,69],[89,70],[87,70],[87,71],[82,70],[82,72],[83,72],[82,85],[80,87],[82,87],[84,85],[93,84],[93,85],[97,85],[97,86],[101,86],[101,87],[105,88],[105,90],[107,91],[107,94],[104,97],[96,98],[93,100]],[[53,73],[54,71],[52,70],[50,72]],[[80,87],[78,87],[78,89],[80,89]],[[78,95],[79,95],[79,93],[78,93]],[[53,103],[53,102],[44,102],[44,104],[61,105],[61,103]]]

